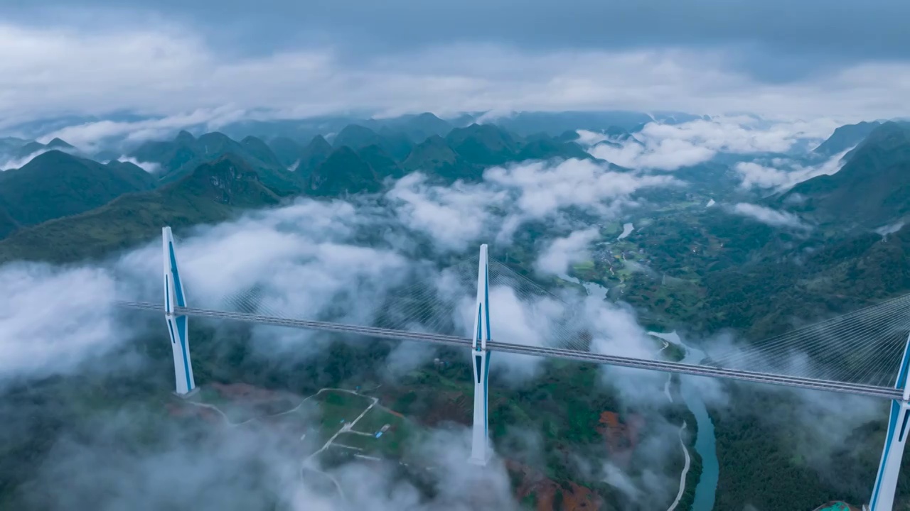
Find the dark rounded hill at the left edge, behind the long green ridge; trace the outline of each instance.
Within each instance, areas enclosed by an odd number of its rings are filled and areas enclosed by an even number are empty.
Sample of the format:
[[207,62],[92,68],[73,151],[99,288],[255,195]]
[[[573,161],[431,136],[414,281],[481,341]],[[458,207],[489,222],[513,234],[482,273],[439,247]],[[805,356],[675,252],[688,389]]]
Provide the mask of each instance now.
[[0,174],[0,205],[16,223],[35,225],[154,185],[155,178],[136,165],[116,161],[102,165],[52,150]]

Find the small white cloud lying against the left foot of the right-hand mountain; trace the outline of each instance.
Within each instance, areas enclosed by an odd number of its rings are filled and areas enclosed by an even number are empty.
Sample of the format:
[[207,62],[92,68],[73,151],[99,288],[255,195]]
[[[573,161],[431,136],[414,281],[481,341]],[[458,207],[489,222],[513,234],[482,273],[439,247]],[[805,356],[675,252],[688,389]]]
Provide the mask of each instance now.
[[817,175],[833,175],[844,166],[842,158],[849,151],[842,151],[819,165],[801,165],[793,160],[774,158],[773,166],[755,162],[739,162],[733,166],[742,177],[743,188],[773,189],[784,192]]

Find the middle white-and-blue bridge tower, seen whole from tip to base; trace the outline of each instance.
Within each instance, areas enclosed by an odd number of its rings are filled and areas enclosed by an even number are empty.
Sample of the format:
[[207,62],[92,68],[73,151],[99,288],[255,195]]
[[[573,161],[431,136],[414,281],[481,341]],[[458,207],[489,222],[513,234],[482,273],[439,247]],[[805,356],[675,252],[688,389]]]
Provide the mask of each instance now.
[[490,461],[490,435],[488,434],[489,417],[487,416],[487,396],[490,376],[490,352],[487,341],[490,340],[490,270],[487,257],[487,245],[480,245],[480,266],[477,276],[477,306],[474,308],[474,333],[471,345],[471,366],[474,368],[474,426],[470,444],[470,462],[485,466]]

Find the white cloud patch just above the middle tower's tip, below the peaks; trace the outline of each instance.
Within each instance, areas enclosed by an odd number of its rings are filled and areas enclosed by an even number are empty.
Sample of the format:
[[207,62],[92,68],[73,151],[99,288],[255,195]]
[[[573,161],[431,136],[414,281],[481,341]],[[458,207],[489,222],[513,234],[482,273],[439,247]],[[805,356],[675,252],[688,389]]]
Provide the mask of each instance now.
[[638,190],[679,184],[672,176],[609,171],[571,159],[491,167],[480,184],[435,185],[426,175],[411,174],[386,196],[402,224],[432,237],[441,249],[455,250],[481,239],[508,245],[524,223],[572,207],[614,216],[634,205],[631,195]]

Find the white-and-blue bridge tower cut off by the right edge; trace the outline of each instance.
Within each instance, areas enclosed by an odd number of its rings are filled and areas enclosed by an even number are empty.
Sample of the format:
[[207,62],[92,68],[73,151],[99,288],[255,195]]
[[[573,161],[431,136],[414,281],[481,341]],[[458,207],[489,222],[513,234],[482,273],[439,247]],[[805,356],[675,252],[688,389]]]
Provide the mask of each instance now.
[[895,388],[904,391],[901,400],[891,402],[891,413],[888,416],[888,435],[885,436],[885,448],[882,451],[882,461],[878,466],[878,475],[875,476],[875,486],[872,489],[872,499],[869,511],[891,511],[895,505],[895,491],[897,490],[897,476],[901,470],[901,458],[904,457],[904,446],[907,436],[910,435],[910,386],[907,386],[907,374],[910,369],[910,337],[904,347],[904,357],[901,359],[900,370],[897,373]]

